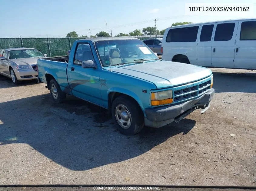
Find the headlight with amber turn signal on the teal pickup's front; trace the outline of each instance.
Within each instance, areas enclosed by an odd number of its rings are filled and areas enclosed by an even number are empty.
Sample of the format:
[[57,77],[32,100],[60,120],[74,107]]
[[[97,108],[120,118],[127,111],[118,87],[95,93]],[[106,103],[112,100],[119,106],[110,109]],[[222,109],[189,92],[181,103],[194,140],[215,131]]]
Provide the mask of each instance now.
[[172,90],[151,93],[151,105],[152,106],[165,105],[165,104],[172,103],[172,102],[173,102]]

